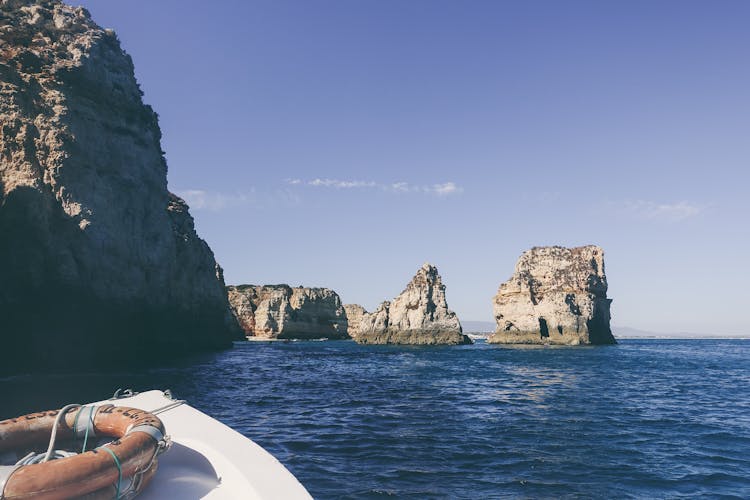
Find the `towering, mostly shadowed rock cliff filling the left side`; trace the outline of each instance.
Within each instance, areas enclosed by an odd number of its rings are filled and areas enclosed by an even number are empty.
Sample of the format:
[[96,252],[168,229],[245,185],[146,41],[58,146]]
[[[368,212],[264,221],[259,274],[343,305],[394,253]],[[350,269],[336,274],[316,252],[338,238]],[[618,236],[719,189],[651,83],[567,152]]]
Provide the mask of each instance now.
[[85,9],[0,3],[3,369],[164,358],[239,332],[141,95]]

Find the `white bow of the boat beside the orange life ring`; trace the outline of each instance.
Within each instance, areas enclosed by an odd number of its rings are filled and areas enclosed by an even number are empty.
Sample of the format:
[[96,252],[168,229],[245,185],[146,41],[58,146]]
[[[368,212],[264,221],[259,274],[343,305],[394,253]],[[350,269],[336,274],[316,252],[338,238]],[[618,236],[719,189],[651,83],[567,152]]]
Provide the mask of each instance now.
[[311,499],[273,455],[185,401],[162,391],[126,393],[99,403],[153,413],[172,445],[139,499]]

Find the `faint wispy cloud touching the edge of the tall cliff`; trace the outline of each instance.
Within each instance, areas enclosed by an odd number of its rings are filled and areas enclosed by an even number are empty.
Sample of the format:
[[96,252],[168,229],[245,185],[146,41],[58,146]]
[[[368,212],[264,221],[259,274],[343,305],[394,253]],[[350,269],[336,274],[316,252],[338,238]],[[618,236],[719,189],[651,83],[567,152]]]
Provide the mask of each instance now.
[[212,212],[243,206],[273,208],[279,205],[297,205],[300,202],[299,197],[287,189],[259,192],[255,188],[251,188],[244,192],[235,193],[185,189],[176,191],[175,194],[185,200],[192,210],[209,210]]

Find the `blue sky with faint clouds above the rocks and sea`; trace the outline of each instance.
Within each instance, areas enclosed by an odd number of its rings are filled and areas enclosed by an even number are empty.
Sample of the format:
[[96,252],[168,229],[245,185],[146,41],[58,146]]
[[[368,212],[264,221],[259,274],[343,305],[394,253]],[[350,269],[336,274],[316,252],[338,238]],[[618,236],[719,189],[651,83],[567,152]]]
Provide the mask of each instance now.
[[534,245],[606,252],[613,324],[747,333],[750,2],[87,0],[228,283],[463,320]]

